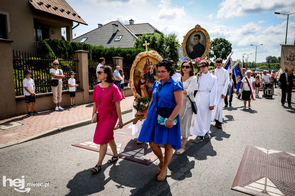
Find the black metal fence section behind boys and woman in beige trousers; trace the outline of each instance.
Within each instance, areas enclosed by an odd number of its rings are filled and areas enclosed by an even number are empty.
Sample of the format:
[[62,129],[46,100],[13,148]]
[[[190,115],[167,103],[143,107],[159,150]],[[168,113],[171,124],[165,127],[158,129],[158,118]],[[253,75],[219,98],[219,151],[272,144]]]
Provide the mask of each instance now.
[[78,81],[77,75],[77,57],[63,55],[60,57],[48,57],[40,54],[29,54],[14,52],[13,50],[13,74],[14,74],[14,89],[15,96],[23,95],[22,80],[24,79],[24,70],[30,70],[31,78],[35,82],[35,93],[46,93],[51,92],[51,75],[50,69],[53,68],[53,61],[58,60],[58,69],[61,69],[64,74],[63,78],[63,90],[68,90],[68,79],[70,78],[69,72],[73,71],[76,73],[75,79]]

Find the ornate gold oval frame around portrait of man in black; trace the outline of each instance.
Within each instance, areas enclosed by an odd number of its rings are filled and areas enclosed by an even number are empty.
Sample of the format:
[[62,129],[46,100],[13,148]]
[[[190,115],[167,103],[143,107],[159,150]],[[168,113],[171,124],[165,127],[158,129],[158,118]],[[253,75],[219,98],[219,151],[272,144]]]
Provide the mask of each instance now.
[[199,24],[197,24],[197,25],[195,26],[195,28],[189,30],[189,32],[187,32],[186,35],[183,36],[183,41],[182,41],[182,43],[181,43],[181,46],[182,46],[182,51],[183,51],[183,55],[184,55],[184,57],[188,57],[189,59],[191,59],[191,58],[189,57],[189,55],[186,53],[186,42],[187,42],[187,39],[189,38],[189,36],[190,36],[192,33],[194,33],[194,32],[198,33],[199,31],[201,31],[201,32],[205,35],[205,38],[206,38],[206,41],[207,41],[207,42],[206,42],[205,52],[204,52],[204,54],[201,56],[201,59],[205,59],[205,57],[208,55],[209,50],[210,50],[210,46],[211,46],[211,44],[212,44],[212,43],[211,43],[211,40],[210,40],[209,33],[208,33],[204,28],[202,28]]

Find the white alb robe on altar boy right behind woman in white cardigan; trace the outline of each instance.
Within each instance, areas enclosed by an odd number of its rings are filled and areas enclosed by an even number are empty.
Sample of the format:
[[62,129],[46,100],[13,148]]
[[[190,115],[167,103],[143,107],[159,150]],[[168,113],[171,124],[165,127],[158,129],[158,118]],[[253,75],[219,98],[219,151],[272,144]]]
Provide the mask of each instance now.
[[202,73],[195,90],[198,90],[195,97],[198,113],[193,114],[190,132],[204,136],[211,125],[212,110],[209,110],[209,106],[216,106],[217,78],[209,72]]

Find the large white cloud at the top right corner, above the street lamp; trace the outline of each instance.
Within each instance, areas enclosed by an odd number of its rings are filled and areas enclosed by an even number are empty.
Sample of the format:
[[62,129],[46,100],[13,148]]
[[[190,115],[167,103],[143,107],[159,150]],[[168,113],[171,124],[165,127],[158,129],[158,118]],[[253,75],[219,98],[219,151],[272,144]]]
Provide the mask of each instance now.
[[274,0],[223,0],[219,4],[221,8],[217,12],[217,18],[232,18],[249,14],[266,12],[290,12],[295,7],[295,1]]

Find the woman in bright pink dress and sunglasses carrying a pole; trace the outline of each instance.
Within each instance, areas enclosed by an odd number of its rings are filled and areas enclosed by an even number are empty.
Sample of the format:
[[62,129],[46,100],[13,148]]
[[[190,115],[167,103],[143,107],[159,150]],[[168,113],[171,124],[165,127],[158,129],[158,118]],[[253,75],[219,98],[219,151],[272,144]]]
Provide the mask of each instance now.
[[105,65],[101,66],[97,77],[101,83],[94,87],[92,97],[92,100],[94,101],[92,117],[96,111],[98,112],[98,120],[93,142],[100,144],[100,149],[97,165],[90,170],[93,173],[97,173],[101,170],[102,161],[106,155],[108,144],[110,145],[114,156],[111,160],[108,160],[107,163],[112,163],[119,159],[117,144],[114,138],[114,127],[116,126],[118,118],[119,123],[117,126],[120,126],[120,129],[123,127],[120,101],[124,98],[124,95],[122,95],[119,88],[113,84],[114,75],[112,68]]

